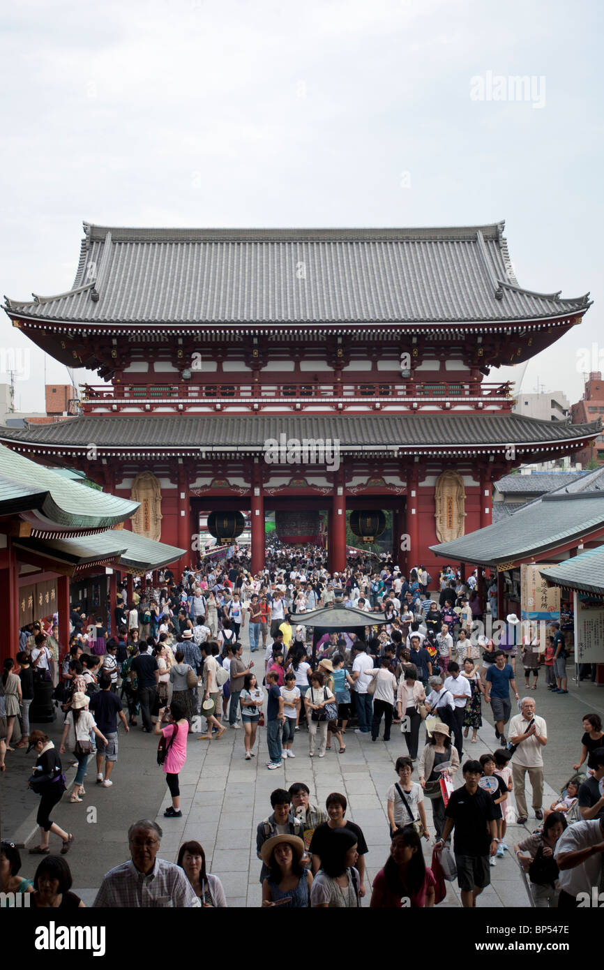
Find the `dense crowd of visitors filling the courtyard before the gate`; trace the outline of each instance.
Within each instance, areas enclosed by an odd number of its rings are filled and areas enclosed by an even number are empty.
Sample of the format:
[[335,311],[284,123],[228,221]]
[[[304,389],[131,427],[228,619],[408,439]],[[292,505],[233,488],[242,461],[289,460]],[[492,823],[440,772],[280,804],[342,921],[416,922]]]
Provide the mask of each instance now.
[[[191,735],[213,743],[229,728],[241,730],[240,757],[249,761],[258,754],[259,728],[266,727],[266,767],[272,771],[297,757],[323,759],[332,750],[343,754],[347,729],[355,721],[355,732],[374,744],[389,743],[395,725],[404,738],[407,755],[397,758],[397,780],[384,792],[390,855],[366,886],[366,840],[361,828],[345,819],[345,796],[333,792],[323,810],[309,804],[305,783],[277,789],[270,798],[272,812],[257,829],[264,907],[358,906],[366,894],[374,907],[431,906],[443,897],[452,858],[462,903],[475,905],[497,857],[508,850],[510,792],[517,822],[527,821],[526,775],[531,808],[542,824],[514,849],[529,874],[535,904],[576,903],[582,891],[577,889],[579,870],[587,878],[596,856],[601,867],[604,851],[604,839],[596,838],[599,824],[604,825],[601,722],[596,714],[586,715],[575,777],[544,809],[547,725],[536,713],[535,695],[521,698],[516,680],[520,655],[525,689],[534,691],[542,657],[533,641],[517,644],[516,637],[512,642],[504,638],[497,647],[488,637],[474,635],[472,625],[486,610],[475,575],[465,580],[446,567],[440,590],[430,593],[434,584],[423,566],[407,578],[392,562],[366,557],[331,574],[320,551],[294,551],[275,543],[257,576],[241,553],[227,562],[190,568],[179,581],[170,570],[159,579],[156,587],[148,581],[136,585],[131,598],[124,587],[111,622],[102,616],[90,622],[73,611],[64,656],[56,628],[37,624],[22,630],[15,660],[5,662],[0,764],[5,770],[6,752],[14,750],[11,742],[19,727],[16,747],[34,748],[38,756],[30,787],[40,795],[40,841],[29,851],[47,857],[41,865],[52,861],[43,876],[36,873],[33,890],[31,885],[19,889],[43,892],[39,887],[50,880],[55,901],[36,905],[76,905],[78,899],[70,892],[71,875],[61,858],[70,851],[73,834],[51,821],[66,791],[60,758],[67,749],[77,765],[69,801],[77,803],[85,794],[91,754],[96,756],[96,782],[113,785],[119,723],[125,732],[141,727],[154,733],[171,798],[164,814],[171,819],[182,815],[179,774]],[[496,617],[492,592],[489,605]],[[366,625],[313,635],[312,611],[334,603],[365,611]],[[506,623],[514,628],[519,621],[511,614]],[[242,630],[249,637],[249,661],[242,660]],[[549,648],[555,677],[548,686],[567,693],[559,630]],[[260,660],[253,659],[257,652],[262,652]],[[43,731],[29,726],[38,680],[52,682],[64,716],[58,749]],[[510,691],[519,710],[514,717]],[[477,743],[483,704],[492,706],[498,747],[480,759],[464,760],[464,744]],[[307,750],[302,751],[304,735]],[[588,826],[585,833],[582,825]],[[572,848],[567,848],[568,832],[576,842]],[[51,833],[61,843],[57,857],[49,855]],[[432,834],[428,866],[422,845]],[[220,880],[206,871],[201,844],[183,843],[174,865],[157,857],[161,836],[160,827],[149,820],[131,828],[131,858],[108,873],[95,905],[157,905],[154,892],[175,905],[226,905]],[[584,846],[586,839],[595,841]],[[586,855],[588,847],[593,851]],[[8,866],[6,878],[2,870],[3,886],[16,885],[20,860],[11,843],[3,843],[2,859]],[[159,877],[153,889],[137,878],[151,871]]]

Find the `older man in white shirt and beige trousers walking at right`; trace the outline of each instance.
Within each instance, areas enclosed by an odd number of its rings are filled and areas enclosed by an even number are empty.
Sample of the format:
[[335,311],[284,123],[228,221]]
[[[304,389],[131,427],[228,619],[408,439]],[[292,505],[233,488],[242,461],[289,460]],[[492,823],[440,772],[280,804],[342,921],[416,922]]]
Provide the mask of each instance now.
[[[525,797],[525,775],[528,772],[532,788],[532,807],[535,818],[543,819],[543,749],[548,743],[548,728],[543,718],[535,715],[532,697],[521,700],[521,714],[510,721],[510,741],[517,744],[512,760],[512,780],[518,808],[518,824],[524,825],[528,818]],[[537,804],[535,805],[535,802]]]

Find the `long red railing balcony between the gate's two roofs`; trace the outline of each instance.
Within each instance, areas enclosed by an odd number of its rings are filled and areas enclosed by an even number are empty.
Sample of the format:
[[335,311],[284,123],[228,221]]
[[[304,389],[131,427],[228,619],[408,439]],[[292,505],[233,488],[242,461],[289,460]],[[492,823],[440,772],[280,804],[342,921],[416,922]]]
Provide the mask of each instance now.
[[356,381],[342,383],[129,383],[91,385],[80,384],[81,408],[84,413],[122,410],[176,411],[223,410],[226,407],[250,411],[274,410],[283,404],[285,410],[316,409],[324,405],[329,410],[349,410],[352,405],[366,404],[379,410],[415,410],[427,406],[443,409],[480,409],[497,406],[509,410],[514,403],[510,382],[489,381]]

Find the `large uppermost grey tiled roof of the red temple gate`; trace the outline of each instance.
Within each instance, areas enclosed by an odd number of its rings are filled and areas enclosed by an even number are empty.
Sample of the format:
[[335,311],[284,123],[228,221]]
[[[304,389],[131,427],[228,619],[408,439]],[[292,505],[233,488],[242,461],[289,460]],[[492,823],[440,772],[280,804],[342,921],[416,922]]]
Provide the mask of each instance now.
[[447,323],[585,310],[518,286],[503,222],[443,229],[124,229],[84,223],[72,290],[11,313],[106,324]]

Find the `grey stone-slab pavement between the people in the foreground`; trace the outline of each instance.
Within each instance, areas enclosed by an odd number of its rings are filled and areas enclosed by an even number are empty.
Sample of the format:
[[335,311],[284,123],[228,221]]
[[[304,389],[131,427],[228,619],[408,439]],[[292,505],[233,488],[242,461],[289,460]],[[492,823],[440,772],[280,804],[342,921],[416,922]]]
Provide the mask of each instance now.
[[[249,658],[248,646],[244,659]],[[262,652],[253,655],[256,667],[262,666]],[[520,694],[525,693],[524,676],[519,678]],[[591,685],[570,684],[570,694],[552,695],[540,678],[536,692],[530,692],[537,702],[537,712],[546,718],[550,741],[545,749],[546,779],[544,805],[549,806],[562,784],[570,777],[572,764],[578,760],[581,719],[588,710],[604,718],[604,691]],[[491,710],[483,704],[483,727],[479,741],[469,741],[465,758],[478,758],[495,746]],[[48,730],[48,728],[47,728]],[[50,726],[48,733],[56,739],[60,725]],[[114,785],[103,789],[94,784],[95,767],[91,761],[86,778],[86,796],[81,805],[70,805],[64,799],[55,810],[56,821],[76,835],[76,842],[68,860],[74,874],[74,889],[84,902],[92,902],[103,874],[111,866],[127,857],[126,832],[129,824],[139,818],[157,817],[164,830],[160,855],[174,860],[178,846],[187,839],[196,839],[207,854],[207,871],[219,876],[229,906],[260,905],[261,887],[258,881],[260,860],[256,857],[256,825],[270,815],[270,792],[288,788],[303,781],[311,792],[311,801],[325,805],[330,792],[342,792],[348,799],[347,818],[360,824],[366,836],[366,888],[364,905],[368,906],[370,885],[389,851],[389,831],[385,793],[397,779],[394,763],[399,755],[406,755],[406,747],[397,726],[392,741],[370,741],[369,735],[348,730],[345,735],[346,752],[339,755],[335,748],[324,759],[308,758],[308,736],[302,728],[296,734],[295,759],[284,761],[281,768],[266,768],[268,752],[266,732],[258,731],[257,757],[243,758],[243,731],[228,729],[219,741],[197,741],[191,734],[188,758],[180,773],[182,819],[165,819],[164,809],[170,804],[161,768],[155,760],[156,741],[143,734],[140,727],[129,735],[120,730],[120,753],[113,773]],[[420,734],[420,748],[424,728]],[[37,800],[25,789],[30,773],[32,755],[23,751],[7,756],[8,770],[0,777],[2,834],[17,843],[35,845],[35,813]],[[67,757],[64,764],[68,763]],[[73,777],[73,771],[71,774]],[[414,773],[417,778],[417,773]],[[461,778],[458,784],[461,784]],[[508,799],[513,805],[513,798]],[[430,831],[430,802],[426,800]],[[91,813],[91,809],[94,811]],[[92,814],[92,818],[91,818]],[[508,826],[506,841],[512,849],[537,826],[534,817],[525,826]],[[51,846],[58,850],[51,836]],[[427,862],[431,846],[425,844]],[[33,859],[23,854],[23,874],[33,875]],[[525,887],[513,856],[497,859],[491,870],[492,885],[479,897],[484,907],[528,905]],[[447,884],[447,898],[441,906],[461,905],[457,884]]]

